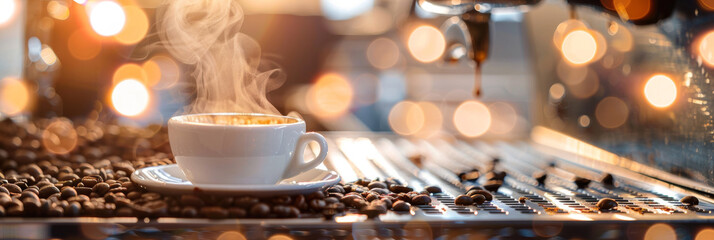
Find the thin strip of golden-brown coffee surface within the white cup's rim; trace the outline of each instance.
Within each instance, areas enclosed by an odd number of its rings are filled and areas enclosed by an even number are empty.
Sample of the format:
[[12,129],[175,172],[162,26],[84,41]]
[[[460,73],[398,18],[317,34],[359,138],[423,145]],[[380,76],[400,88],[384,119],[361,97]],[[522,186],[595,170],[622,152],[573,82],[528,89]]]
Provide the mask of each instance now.
[[292,117],[270,116],[270,115],[246,115],[246,114],[193,114],[175,118],[186,123],[200,123],[212,125],[275,125],[298,123],[299,120]]

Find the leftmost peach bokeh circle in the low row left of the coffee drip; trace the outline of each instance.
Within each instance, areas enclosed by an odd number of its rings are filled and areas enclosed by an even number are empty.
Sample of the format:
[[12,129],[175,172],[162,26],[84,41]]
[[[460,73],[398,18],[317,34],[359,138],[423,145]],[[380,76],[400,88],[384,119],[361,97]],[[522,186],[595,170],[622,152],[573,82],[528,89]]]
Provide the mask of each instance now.
[[402,101],[389,111],[389,126],[397,134],[413,135],[424,127],[424,110],[419,104]]

